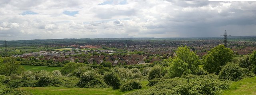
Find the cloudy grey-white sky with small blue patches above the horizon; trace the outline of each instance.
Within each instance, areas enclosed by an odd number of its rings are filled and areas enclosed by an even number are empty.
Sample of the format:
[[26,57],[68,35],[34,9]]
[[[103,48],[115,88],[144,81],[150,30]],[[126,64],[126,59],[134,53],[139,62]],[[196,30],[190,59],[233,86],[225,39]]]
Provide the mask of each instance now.
[[256,36],[256,1],[0,0],[0,40]]

